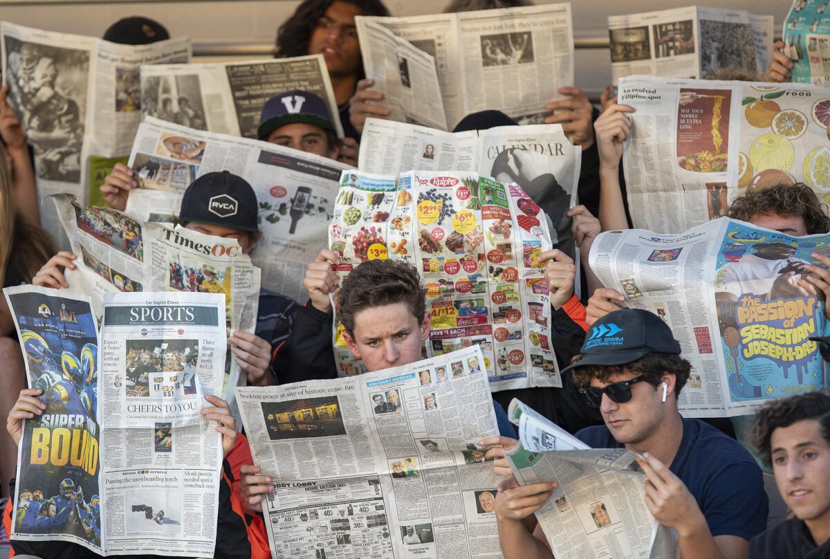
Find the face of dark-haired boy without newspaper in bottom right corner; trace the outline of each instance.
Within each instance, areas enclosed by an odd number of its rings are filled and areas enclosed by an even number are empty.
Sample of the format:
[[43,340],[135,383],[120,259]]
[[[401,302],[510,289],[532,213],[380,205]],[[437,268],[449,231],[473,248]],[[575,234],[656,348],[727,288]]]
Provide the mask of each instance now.
[[[775,483],[795,516],[807,522],[830,522],[830,444],[818,420],[804,419],[779,427],[769,438]],[[812,529],[812,527],[811,527]]]

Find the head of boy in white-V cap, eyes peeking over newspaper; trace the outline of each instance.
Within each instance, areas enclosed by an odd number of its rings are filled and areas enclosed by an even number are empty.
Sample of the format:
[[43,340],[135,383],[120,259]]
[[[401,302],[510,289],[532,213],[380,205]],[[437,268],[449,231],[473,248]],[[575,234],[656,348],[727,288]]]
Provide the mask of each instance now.
[[329,108],[309,91],[286,91],[262,107],[257,135],[260,140],[307,151],[330,159],[340,152]]

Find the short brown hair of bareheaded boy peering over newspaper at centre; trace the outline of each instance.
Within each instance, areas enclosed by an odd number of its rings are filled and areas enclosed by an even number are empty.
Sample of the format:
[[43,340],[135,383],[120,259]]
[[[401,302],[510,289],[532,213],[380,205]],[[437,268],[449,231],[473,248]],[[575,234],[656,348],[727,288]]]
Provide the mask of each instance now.
[[398,260],[369,260],[346,277],[338,294],[338,316],[354,337],[354,315],[375,306],[406,303],[420,323],[427,311],[426,292],[415,267]]

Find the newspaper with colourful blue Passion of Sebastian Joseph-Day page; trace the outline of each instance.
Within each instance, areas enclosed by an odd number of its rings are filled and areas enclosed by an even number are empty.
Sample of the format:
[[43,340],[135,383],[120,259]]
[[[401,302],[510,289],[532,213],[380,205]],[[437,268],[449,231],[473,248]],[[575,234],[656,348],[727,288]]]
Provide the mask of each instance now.
[[825,365],[811,338],[825,335],[825,303],[801,275],[828,241],[720,218],[679,235],[602,233],[590,264],[627,306],[671,326],[691,363],[678,402],[684,416],[735,416],[824,390]]

